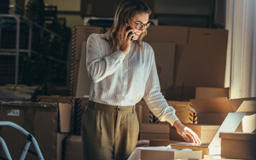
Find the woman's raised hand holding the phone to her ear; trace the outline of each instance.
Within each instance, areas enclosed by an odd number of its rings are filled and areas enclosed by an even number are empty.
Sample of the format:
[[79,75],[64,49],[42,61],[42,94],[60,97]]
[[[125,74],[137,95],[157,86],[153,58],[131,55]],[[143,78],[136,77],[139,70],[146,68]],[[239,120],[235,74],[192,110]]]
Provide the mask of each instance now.
[[[128,27],[128,25],[126,26]],[[126,28],[125,27],[125,28]],[[128,36],[128,34],[131,34]],[[134,36],[133,29],[125,30],[124,38],[121,40],[120,50],[126,55],[131,49],[131,37]]]

